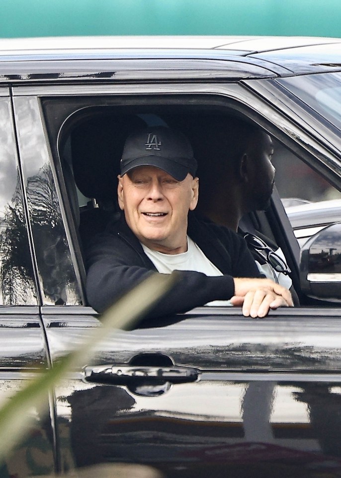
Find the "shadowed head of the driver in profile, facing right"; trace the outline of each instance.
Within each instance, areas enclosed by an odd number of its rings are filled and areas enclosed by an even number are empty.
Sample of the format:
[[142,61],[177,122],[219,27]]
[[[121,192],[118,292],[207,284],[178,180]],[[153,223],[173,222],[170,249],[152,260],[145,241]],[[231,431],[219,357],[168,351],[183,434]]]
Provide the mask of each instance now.
[[[239,219],[250,211],[267,209],[275,171],[270,136],[237,118],[212,115],[205,124],[194,143],[199,173],[206,180],[200,188],[200,209],[207,214],[211,203],[216,212],[221,208],[223,214]],[[219,215],[215,214],[216,220]],[[229,217],[225,223],[229,224]]]

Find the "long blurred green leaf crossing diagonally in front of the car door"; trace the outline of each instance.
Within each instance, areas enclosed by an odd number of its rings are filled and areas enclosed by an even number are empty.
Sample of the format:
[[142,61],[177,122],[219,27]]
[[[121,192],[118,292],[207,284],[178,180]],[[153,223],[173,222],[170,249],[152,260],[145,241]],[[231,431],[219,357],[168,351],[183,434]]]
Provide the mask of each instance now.
[[101,326],[91,331],[84,343],[58,360],[47,371],[29,381],[0,409],[0,461],[23,438],[36,419],[32,410],[44,411],[47,394],[54,384],[75,368],[82,368],[93,350],[113,329],[132,328],[173,285],[176,274],[155,273],[119,299],[101,317]]

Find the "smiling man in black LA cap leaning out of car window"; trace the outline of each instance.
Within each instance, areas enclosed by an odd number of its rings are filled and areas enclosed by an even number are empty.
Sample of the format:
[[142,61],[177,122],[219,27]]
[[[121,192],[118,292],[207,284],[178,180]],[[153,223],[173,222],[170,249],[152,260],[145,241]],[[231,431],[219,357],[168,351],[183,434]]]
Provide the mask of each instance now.
[[99,312],[153,271],[179,270],[179,280],[149,317],[185,312],[215,300],[264,317],[292,306],[290,292],[259,278],[246,242],[227,228],[198,221],[196,160],[180,132],[163,126],[126,140],[118,203],[123,215],[88,254],[87,297]]

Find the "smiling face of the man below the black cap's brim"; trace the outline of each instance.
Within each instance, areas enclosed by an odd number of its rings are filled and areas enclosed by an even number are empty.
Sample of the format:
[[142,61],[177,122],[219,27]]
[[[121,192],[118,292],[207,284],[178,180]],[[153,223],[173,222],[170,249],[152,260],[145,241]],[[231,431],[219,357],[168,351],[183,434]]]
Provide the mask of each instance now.
[[168,254],[187,250],[187,215],[198,200],[198,178],[177,181],[154,166],[118,176],[118,203],[129,228],[147,247]]

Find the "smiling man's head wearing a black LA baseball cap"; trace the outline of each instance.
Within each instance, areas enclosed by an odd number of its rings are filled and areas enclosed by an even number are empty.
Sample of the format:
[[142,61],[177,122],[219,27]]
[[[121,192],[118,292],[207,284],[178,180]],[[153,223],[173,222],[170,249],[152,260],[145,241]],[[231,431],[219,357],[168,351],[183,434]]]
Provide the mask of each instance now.
[[187,247],[187,215],[196,207],[196,160],[187,138],[164,126],[131,134],[125,143],[118,204],[135,236],[165,253]]

